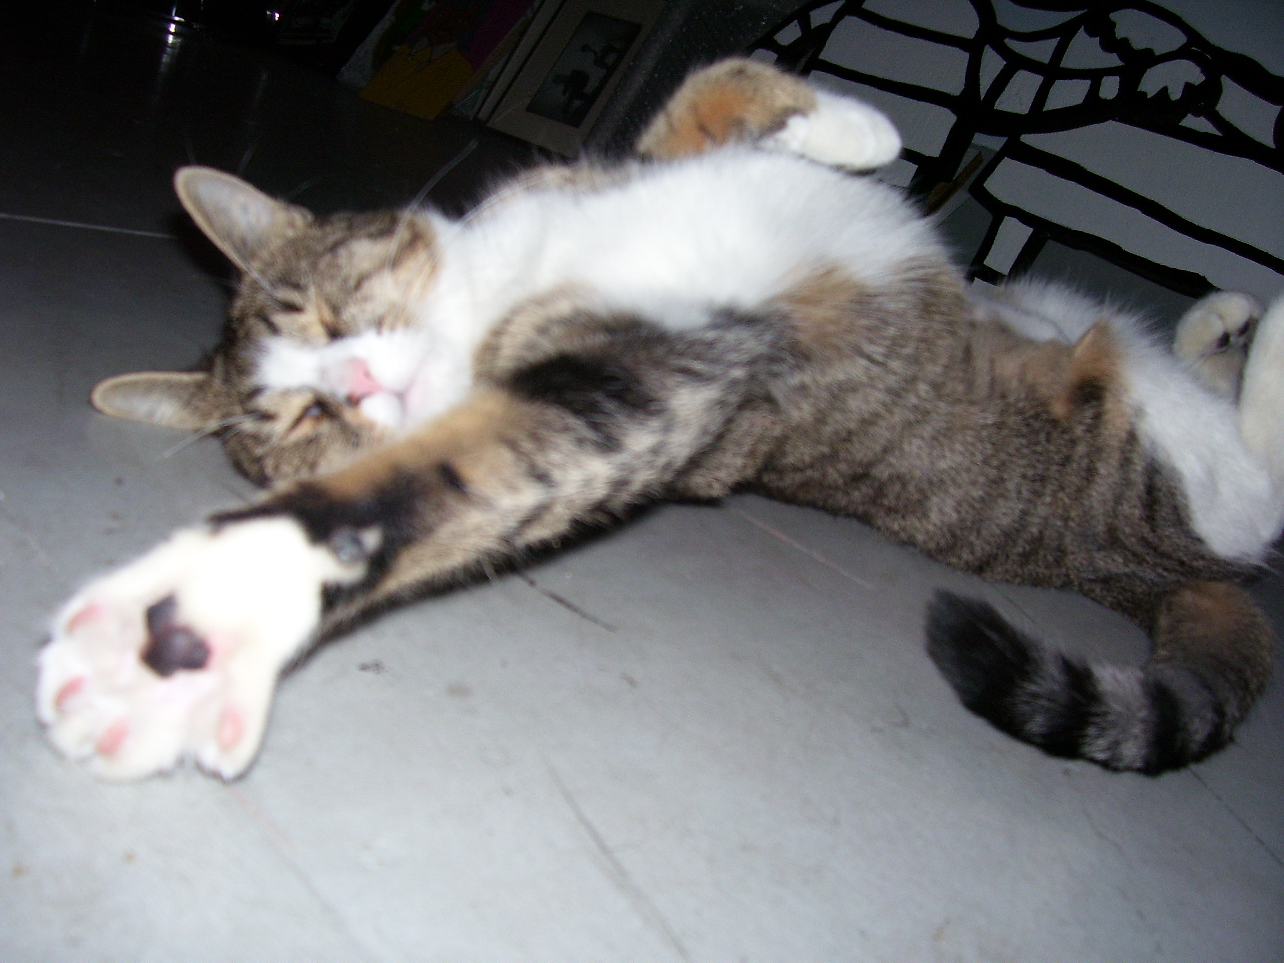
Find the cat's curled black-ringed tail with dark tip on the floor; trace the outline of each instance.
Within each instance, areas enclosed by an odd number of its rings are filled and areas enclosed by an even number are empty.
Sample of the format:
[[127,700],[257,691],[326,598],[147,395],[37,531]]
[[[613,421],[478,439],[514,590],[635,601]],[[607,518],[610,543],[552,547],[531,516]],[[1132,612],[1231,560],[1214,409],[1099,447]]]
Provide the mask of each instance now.
[[937,592],[927,651],[963,705],[1055,756],[1157,774],[1230,742],[1271,674],[1274,642],[1248,593],[1192,582],[1159,602],[1139,668],[1052,651],[994,606]]

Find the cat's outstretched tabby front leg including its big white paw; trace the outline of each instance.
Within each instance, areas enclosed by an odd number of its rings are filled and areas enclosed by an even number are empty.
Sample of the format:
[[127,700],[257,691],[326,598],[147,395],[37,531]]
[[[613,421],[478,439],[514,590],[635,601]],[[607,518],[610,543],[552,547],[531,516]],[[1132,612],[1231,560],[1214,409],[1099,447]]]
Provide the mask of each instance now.
[[[178,533],[87,586],[41,654],[55,746],[107,778],[257,754],[318,632],[659,494],[752,380],[752,333],[556,356],[348,467]],[[701,340],[702,339],[702,340]],[[630,353],[632,352],[632,353]]]

